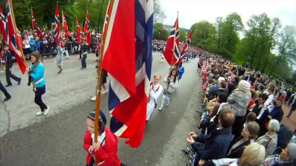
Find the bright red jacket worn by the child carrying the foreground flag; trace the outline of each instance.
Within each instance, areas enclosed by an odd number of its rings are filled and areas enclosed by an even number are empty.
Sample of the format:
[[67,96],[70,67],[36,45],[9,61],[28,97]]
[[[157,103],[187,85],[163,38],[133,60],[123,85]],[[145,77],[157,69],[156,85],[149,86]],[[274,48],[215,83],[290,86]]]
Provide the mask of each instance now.
[[105,145],[97,150],[93,150],[92,153],[89,152],[89,148],[92,146],[92,134],[88,130],[85,132],[83,148],[88,153],[86,156],[86,163],[89,165],[93,158],[93,154],[95,154],[98,160],[97,163],[103,162],[99,166],[120,166],[120,160],[117,156],[118,138],[107,127],[105,127],[105,132]]

